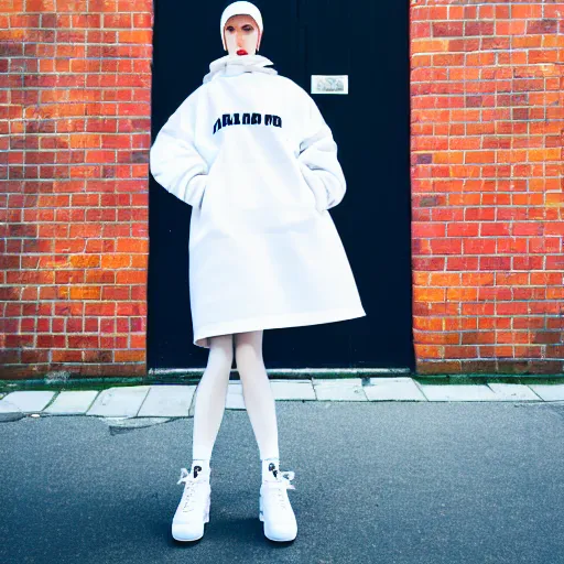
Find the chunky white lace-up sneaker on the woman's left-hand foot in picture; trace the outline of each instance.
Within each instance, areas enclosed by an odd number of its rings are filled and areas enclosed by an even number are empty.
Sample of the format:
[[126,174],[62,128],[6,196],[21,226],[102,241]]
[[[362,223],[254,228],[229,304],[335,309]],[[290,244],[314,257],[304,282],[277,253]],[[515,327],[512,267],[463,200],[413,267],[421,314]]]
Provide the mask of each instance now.
[[197,541],[204,536],[204,523],[209,521],[212,488],[209,474],[196,466],[195,476],[182,468],[178,484],[184,482],[184,492],[172,520],[172,535],[176,541]]

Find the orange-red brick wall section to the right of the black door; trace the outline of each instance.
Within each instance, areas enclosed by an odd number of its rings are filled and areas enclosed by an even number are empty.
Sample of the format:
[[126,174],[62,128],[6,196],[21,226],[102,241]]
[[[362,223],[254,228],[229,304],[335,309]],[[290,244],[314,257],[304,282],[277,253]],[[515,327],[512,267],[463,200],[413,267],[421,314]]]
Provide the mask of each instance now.
[[564,371],[563,18],[411,1],[420,372]]

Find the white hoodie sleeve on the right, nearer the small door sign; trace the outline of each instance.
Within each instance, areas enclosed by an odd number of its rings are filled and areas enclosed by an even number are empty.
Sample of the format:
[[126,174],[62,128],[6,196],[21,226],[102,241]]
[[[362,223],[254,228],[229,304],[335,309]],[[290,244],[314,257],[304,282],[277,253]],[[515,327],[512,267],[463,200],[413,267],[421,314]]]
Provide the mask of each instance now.
[[297,161],[314,193],[318,212],[330,209],[345,197],[347,184],[337,160],[337,143],[313,98],[306,95],[305,126]]

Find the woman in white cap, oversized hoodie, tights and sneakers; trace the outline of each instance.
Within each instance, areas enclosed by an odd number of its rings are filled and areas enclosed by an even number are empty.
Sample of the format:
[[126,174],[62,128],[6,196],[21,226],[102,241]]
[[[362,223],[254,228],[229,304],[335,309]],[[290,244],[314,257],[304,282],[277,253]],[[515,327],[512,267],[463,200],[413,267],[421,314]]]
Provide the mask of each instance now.
[[250,2],[220,20],[228,55],[171,116],[151,148],[154,178],[192,209],[189,290],[194,345],[209,348],[197,388],[193,460],[174,539],[209,521],[209,460],[235,357],[262,464],[259,518],[273,541],[297,534],[279,468],[275,403],[262,359],[265,328],[366,315],[328,209],[346,183],[337,145],[310,95],[257,55],[262,17]]

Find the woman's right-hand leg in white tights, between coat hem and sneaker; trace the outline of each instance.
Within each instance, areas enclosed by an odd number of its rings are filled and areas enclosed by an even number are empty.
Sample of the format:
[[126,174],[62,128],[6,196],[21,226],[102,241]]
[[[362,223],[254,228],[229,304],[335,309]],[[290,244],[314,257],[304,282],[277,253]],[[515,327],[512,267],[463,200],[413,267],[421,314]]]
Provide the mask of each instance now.
[[235,358],[245,406],[259,445],[260,458],[279,458],[276,409],[262,359],[262,330],[238,333]]

